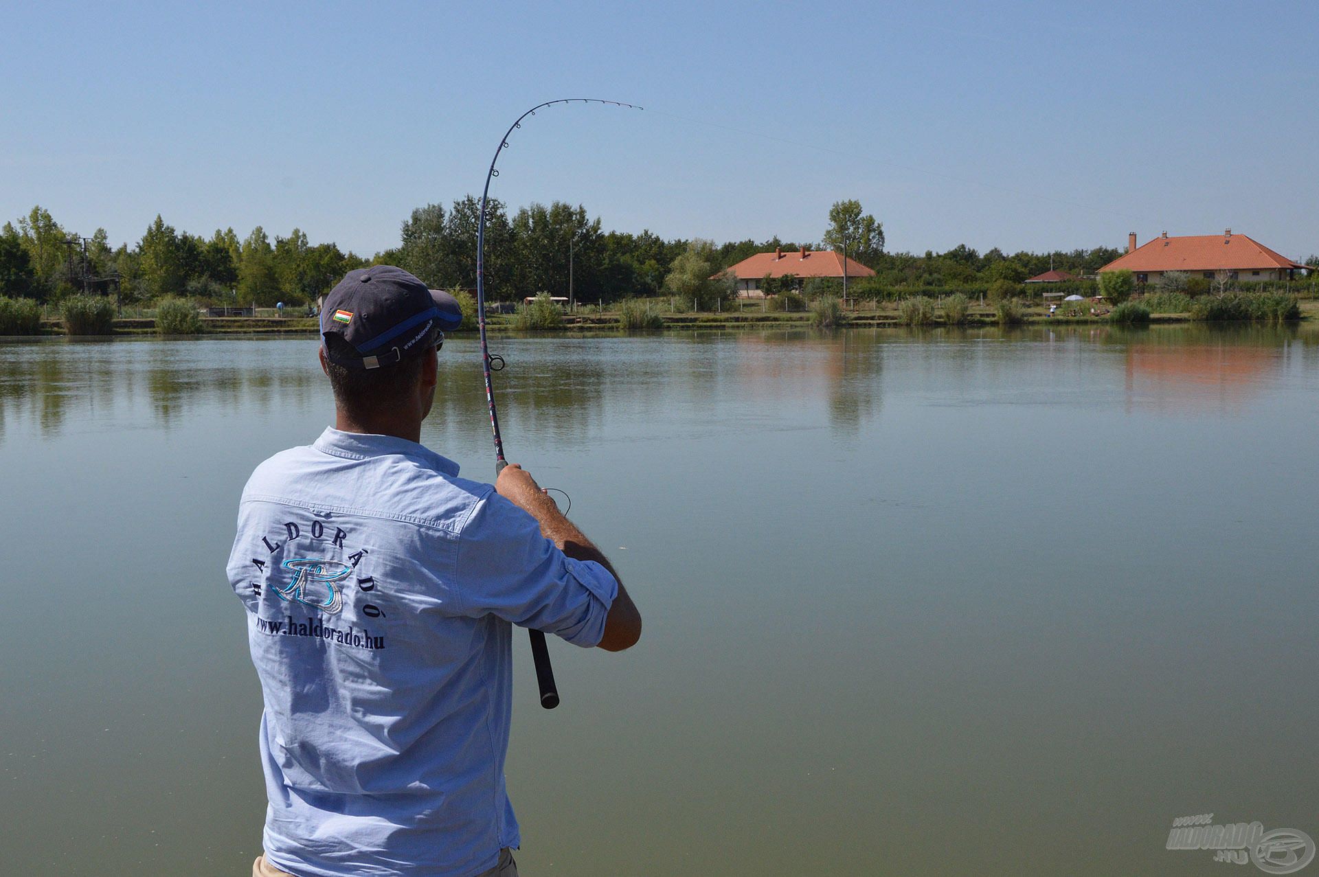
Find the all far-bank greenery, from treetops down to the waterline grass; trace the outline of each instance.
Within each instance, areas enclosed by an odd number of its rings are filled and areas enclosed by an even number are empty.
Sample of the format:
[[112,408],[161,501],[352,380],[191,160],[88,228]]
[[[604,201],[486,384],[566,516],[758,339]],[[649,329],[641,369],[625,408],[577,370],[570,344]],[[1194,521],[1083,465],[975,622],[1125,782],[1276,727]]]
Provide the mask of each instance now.
[[[260,226],[245,237],[232,228],[206,237],[175,229],[158,215],[140,240],[113,247],[103,228],[83,237],[36,206],[16,223],[0,224],[0,298],[9,302],[0,306],[0,335],[58,331],[54,323],[75,335],[315,331],[313,322],[298,318],[314,313],[347,270],[371,264],[398,265],[431,289],[454,293],[464,303],[467,328],[475,323],[479,214],[480,200],[472,195],[448,206],[418,207],[400,224],[398,245],[367,257],[332,241],[311,243],[298,228],[273,240]],[[1319,256],[1308,257],[1312,268],[1303,276],[1286,281],[1239,282],[1233,272],[1210,277],[1165,272],[1141,284],[1128,270],[1099,273],[1120,256],[1112,247],[1008,253],[960,244],[940,253],[892,252],[884,223],[864,214],[859,200],[839,200],[819,219],[818,243],[777,236],[715,243],[667,239],[649,229],[607,232],[600,218],[580,204],[533,203],[514,211],[491,200],[485,294],[488,302],[504,302],[492,306],[491,326],[522,331],[612,326],[628,334],[778,323],[1134,326],[1145,324],[1146,314],[1150,322],[1279,323],[1310,317],[1298,299],[1319,299]],[[840,277],[791,273],[795,253],[805,258],[816,249],[845,252],[872,273],[848,277],[845,287]],[[729,270],[756,253],[776,252],[785,268],[754,284]],[[1028,282],[1050,269],[1074,277]],[[766,297],[740,298],[752,285]],[[551,295],[576,306],[565,311]],[[1047,307],[1050,302],[1057,307]],[[40,309],[36,326],[33,303]],[[109,320],[107,305],[113,307]],[[282,314],[276,310],[281,305]],[[236,311],[259,317],[226,322]]]

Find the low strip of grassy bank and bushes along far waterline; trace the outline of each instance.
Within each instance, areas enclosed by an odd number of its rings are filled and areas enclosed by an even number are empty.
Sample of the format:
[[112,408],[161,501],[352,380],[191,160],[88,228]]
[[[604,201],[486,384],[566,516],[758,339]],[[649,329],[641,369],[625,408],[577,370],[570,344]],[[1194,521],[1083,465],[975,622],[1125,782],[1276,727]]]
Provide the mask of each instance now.
[[[580,334],[608,332],[648,335],[663,331],[737,328],[840,327],[984,327],[984,326],[1148,326],[1148,324],[1286,324],[1319,320],[1319,299],[1298,299],[1281,293],[1225,293],[1186,302],[1166,310],[1159,294],[1133,297],[1113,309],[1076,302],[1080,307],[1049,306],[1020,298],[1000,302],[971,301],[954,294],[943,298],[911,297],[894,302],[851,299],[845,306],[834,297],[818,298],[802,310],[776,310],[770,302],[747,301],[729,310],[692,311],[674,307],[670,298],[621,299],[615,306],[584,305],[572,313],[547,301],[520,305],[512,313],[491,313],[492,332]],[[277,309],[257,309],[253,317],[203,317],[190,302],[171,298],[152,307],[125,307],[116,317],[113,302],[98,297],[71,297],[59,306],[40,306],[30,299],[0,297],[0,336],[98,336],[98,335],[315,335],[315,317],[281,317]],[[1091,313],[1091,310],[1095,313]],[[454,336],[476,331],[475,314]]]

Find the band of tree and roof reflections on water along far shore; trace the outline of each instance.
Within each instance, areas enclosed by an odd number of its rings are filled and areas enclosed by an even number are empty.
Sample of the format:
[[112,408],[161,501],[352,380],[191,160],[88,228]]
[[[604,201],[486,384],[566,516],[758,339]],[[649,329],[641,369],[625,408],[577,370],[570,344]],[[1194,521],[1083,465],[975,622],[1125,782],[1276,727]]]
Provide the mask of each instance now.
[[[495,339],[509,367],[496,376],[505,426],[565,446],[586,444],[611,409],[645,406],[682,389],[690,396],[760,405],[823,404],[834,430],[855,434],[882,405],[886,359],[905,378],[939,373],[962,386],[1020,385],[1041,398],[1054,386],[1121,392],[1126,408],[1155,410],[1240,408],[1283,371],[1319,368],[1308,327],[1109,326],[1014,330],[852,330],[843,332],[695,332],[665,339]],[[1002,355],[996,342],[1018,347]],[[1020,344],[1042,344],[1022,355]],[[96,422],[125,408],[162,426],[210,406],[328,408],[315,342],[37,340],[0,344],[0,443],[21,425],[44,437],[70,419]],[[686,352],[674,356],[675,344]],[[1116,351],[1120,360],[1108,352]],[[1120,368],[1112,368],[1120,361]],[[1038,363],[1026,380],[1024,363]],[[127,367],[127,368],[125,368]],[[484,422],[479,357],[470,339],[446,348],[433,415],[439,425]],[[699,429],[699,425],[692,425]]]

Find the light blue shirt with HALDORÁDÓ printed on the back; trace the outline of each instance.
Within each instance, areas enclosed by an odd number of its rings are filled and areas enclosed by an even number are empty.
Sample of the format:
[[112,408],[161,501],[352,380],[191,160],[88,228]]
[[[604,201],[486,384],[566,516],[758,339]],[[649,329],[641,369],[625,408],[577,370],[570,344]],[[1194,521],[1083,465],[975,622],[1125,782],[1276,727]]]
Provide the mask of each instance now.
[[466,877],[518,845],[512,625],[599,644],[604,567],[421,444],[327,429],[252,473],[228,576],[264,692],[272,864]]

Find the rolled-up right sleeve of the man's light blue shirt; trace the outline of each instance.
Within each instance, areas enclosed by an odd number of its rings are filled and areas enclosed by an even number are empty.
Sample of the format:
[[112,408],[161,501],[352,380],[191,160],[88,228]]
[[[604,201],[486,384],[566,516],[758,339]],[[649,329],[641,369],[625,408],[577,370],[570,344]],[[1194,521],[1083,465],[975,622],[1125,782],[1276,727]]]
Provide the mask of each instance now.
[[456,579],[464,615],[493,615],[583,648],[599,645],[619,595],[608,570],[563,554],[536,518],[493,492],[463,526]]

